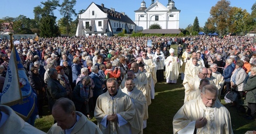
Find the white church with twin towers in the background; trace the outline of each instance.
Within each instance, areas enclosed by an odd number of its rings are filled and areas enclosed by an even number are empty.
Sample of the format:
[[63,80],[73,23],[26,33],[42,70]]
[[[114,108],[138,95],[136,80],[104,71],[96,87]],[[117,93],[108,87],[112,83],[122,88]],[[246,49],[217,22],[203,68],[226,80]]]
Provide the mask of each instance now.
[[135,24],[142,26],[144,30],[149,29],[152,24],[159,24],[162,29],[179,29],[180,10],[174,6],[172,0],[168,0],[167,7],[154,2],[147,8],[146,3],[141,3],[141,7],[135,10]]

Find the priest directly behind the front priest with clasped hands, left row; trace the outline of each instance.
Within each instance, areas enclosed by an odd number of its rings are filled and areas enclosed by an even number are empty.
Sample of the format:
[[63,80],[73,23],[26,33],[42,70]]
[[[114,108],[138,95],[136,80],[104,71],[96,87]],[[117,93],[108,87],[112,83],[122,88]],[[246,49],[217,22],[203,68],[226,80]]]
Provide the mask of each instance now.
[[126,79],[125,88],[122,89],[122,92],[131,97],[136,110],[137,120],[133,120],[131,123],[132,133],[143,133],[143,120],[148,118],[148,116],[144,116],[147,112],[147,101],[143,92],[134,86],[133,79],[131,78]]

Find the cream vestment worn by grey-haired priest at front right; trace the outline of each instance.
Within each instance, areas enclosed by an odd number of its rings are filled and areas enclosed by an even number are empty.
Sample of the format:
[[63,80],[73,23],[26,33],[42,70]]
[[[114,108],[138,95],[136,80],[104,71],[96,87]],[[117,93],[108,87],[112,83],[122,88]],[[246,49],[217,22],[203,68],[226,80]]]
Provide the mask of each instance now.
[[180,108],[173,117],[173,133],[191,133],[195,129],[195,121],[200,117],[207,119],[204,127],[197,128],[196,133],[233,133],[228,110],[218,100],[212,108],[206,108],[201,96],[191,100]]

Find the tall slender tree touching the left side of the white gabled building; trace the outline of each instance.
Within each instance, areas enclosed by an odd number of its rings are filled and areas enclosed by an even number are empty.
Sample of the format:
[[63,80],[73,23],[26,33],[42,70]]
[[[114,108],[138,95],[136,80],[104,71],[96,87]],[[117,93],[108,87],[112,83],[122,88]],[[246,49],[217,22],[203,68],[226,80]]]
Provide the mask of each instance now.
[[76,0],[64,0],[61,4],[60,13],[64,18],[64,21],[66,21],[66,34],[69,35],[71,31],[71,21],[73,15],[77,15],[74,9],[74,6],[76,5]]

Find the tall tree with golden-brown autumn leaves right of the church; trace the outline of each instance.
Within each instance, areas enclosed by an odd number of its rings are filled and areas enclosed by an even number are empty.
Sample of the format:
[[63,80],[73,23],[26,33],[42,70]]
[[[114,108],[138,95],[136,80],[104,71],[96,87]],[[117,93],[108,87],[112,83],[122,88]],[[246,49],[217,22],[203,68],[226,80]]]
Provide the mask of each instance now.
[[220,0],[210,11],[210,18],[214,25],[216,25],[216,29],[219,31],[220,36],[225,33],[229,25],[228,18],[231,10],[229,5],[229,1]]

